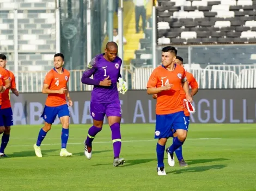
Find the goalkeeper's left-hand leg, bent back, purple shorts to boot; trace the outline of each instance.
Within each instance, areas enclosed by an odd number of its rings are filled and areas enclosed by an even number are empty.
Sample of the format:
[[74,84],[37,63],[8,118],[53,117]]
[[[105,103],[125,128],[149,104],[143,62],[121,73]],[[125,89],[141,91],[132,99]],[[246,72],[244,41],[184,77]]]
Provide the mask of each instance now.
[[102,129],[103,119],[105,117],[105,105],[91,102],[90,115],[93,118],[93,126],[88,130],[87,138],[84,141],[84,155],[86,155],[88,159],[92,158],[93,139]]

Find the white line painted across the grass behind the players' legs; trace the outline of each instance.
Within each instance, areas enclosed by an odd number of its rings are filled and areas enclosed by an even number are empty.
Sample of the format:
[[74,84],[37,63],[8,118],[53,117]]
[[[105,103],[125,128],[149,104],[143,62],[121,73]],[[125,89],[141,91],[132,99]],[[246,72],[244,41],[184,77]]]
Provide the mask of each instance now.
[[[208,140],[208,139],[222,139],[222,138],[187,138],[188,140]],[[156,139],[148,139],[148,140],[127,140],[122,141],[122,143],[129,143],[129,142],[150,142],[156,141]],[[112,143],[112,141],[100,141],[100,142],[93,142],[95,143]],[[50,143],[50,144],[41,144],[41,145],[59,145],[60,143]],[[68,143],[70,144],[84,144],[84,143]],[[31,147],[32,144],[23,144],[23,145],[8,145],[8,147]]]

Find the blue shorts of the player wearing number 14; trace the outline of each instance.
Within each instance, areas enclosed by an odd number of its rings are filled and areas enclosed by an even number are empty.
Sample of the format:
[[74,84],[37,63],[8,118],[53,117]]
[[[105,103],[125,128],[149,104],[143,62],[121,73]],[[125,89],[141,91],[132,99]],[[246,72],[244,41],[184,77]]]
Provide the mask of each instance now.
[[187,131],[186,116],[183,111],[156,115],[155,138],[173,137],[177,129]]

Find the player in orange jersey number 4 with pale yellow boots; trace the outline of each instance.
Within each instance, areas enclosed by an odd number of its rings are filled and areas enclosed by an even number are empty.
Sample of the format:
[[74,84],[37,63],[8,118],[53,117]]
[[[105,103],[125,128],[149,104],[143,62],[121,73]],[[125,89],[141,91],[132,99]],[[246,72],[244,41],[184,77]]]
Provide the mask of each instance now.
[[[72,106],[72,100],[69,95],[68,81],[69,71],[63,68],[64,55],[58,53],[54,55],[54,68],[46,74],[42,93],[48,94],[45,108],[41,117],[45,120],[44,127],[39,131],[38,140],[34,144],[35,155],[42,157],[41,142],[44,140],[46,133],[51,130],[55,118],[59,117],[62,123],[62,149],[60,156],[72,156],[72,153],[66,150],[66,144],[69,138],[69,106]],[[68,105],[66,104],[68,98]]]

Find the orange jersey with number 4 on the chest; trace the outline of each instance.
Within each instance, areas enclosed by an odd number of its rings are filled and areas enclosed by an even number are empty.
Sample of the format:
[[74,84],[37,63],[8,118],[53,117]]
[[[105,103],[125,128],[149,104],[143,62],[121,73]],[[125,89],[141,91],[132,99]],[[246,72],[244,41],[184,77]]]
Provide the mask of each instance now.
[[[49,90],[60,90],[66,87],[69,81],[70,73],[63,68],[63,73],[59,74],[55,68],[46,74],[44,84],[49,85]],[[48,107],[57,107],[66,104],[66,94],[50,93],[46,99],[45,105]]]

